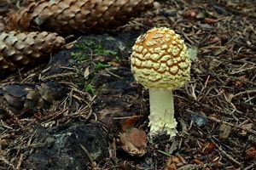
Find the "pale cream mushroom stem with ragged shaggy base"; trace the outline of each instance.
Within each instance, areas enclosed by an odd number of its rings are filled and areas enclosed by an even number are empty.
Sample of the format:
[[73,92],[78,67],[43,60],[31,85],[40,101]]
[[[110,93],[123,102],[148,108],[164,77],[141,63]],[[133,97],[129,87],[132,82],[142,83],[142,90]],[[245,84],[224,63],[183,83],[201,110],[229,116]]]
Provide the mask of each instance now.
[[149,89],[150,133],[166,131],[171,137],[175,136],[177,122],[174,118],[172,90]]

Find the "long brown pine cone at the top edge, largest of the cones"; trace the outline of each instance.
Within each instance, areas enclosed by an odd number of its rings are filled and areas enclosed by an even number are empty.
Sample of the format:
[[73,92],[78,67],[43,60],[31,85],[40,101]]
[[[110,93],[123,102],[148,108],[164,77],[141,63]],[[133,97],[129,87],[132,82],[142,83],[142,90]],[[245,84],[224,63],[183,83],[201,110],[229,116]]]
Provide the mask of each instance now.
[[40,28],[61,34],[101,31],[124,25],[153,7],[154,0],[42,0],[9,17],[9,28]]

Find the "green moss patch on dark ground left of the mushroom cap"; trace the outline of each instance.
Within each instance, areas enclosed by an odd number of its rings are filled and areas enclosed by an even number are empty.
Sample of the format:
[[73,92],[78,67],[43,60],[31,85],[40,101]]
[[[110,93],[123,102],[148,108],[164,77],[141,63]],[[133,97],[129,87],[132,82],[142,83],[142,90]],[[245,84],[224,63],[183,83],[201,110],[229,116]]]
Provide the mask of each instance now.
[[128,50],[125,53],[122,51],[126,49],[124,44],[105,35],[100,38],[83,37],[73,49],[70,52],[71,59],[75,61],[73,66],[84,75],[84,79],[79,78],[77,85],[93,95],[96,94],[92,81],[94,77],[128,56]]

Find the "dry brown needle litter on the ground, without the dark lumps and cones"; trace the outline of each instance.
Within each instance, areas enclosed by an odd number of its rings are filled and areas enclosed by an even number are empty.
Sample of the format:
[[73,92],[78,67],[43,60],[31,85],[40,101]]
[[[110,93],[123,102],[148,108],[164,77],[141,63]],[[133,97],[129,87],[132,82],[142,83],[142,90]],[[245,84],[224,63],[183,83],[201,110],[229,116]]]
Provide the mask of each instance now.
[[[61,125],[90,122],[90,126],[104,129],[102,136],[108,133],[111,154],[103,154],[103,161],[94,160],[92,152],[83,146],[88,169],[255,169],[255,7],[250,0],[158,1],[154,10],[112,32],[139,35],[153,26],[168,26],[194,49],[191,81],[174,92],[180,133],[171,140],[165,133],[147,139],[131,134],[131,129],[148,134],[148,92],[133,81],[128,60],[132,41],[127,42],[126,57],[119,60],[113,55],[104,56],[101,62],[105,65],[117,65],[100,69],[94,78],[90,66],[97,61],[92,59],[79,66],[84,69],[79,71],[66,65],[63,56],[69,57],[70,53],[61,52],[61,59],[56,59],[65,63],[62,69],[66,68],[60,72],[49,68],[49,72],[45,71],[48,74],[40,74],[40,68],[36,68],[2,81],[1,88],[15,83],[56,81],[65,85],[68,93],[34,115],[17,116],[1,102],[1,113],[7,112],[8,118],[1,117],[0,123],[0,168],[22,169],[27,151],[32,153],[53,143],[49,141],[52,136],[37,139],[38,133],[55,136],[54,132],[63,128]],[[130,38],[134,40],[135,35]],[[126,36],[119,37],[125,40]],[[94,85],[96,95],[78,84],[84,75]],[[34,122],[47,133],[36,130]],[[130,146],[134,149],[140,144],[143,152],[133,150],[131,154]]]

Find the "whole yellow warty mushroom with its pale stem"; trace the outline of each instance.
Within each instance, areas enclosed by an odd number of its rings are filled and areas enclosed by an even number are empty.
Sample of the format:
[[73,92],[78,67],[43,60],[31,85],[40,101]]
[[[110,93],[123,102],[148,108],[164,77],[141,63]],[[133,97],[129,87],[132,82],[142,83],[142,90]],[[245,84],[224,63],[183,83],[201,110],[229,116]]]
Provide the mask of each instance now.
[[150,133],[177,133],[172,90],[190,79],[190,60],[184,41],[174,31],[152,28],[132,47],[131,71],[135,80],[149,89]]

